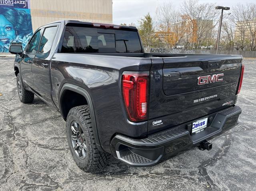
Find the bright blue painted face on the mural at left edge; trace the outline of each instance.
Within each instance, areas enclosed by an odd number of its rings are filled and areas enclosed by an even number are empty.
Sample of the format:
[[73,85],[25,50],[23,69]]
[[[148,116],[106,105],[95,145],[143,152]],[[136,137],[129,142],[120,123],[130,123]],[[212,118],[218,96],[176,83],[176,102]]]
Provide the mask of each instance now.
[[14,26],[3,15],[0,15],[0,43],[9,45],[15,38]]

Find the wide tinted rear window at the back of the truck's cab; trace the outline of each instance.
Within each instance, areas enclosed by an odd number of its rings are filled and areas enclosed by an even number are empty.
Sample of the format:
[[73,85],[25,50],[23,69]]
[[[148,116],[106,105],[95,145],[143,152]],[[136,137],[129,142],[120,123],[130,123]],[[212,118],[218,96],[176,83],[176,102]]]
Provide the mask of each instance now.
[[135,31],[67,26],[62,53],[142,53]]

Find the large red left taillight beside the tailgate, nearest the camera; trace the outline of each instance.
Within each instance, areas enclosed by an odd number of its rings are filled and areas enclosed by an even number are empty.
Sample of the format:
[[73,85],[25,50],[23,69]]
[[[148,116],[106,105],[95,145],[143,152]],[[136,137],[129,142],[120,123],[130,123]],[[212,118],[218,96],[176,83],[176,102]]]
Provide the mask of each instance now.
[[149,72],[125,71],[122,75],[122,94],[129,119],[147,119]]

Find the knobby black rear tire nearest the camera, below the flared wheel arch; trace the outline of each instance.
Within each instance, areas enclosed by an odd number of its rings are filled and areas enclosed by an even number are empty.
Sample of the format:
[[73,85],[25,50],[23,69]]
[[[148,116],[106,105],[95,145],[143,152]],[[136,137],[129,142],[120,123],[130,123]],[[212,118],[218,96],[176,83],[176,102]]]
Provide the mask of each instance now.
[[[74,132],[71,128],[74,122],[77,123],[80,127],[80,131],[82,132],[81,134],[83,135],[83,143],[86,144],[85,156],[79,157],[79,154],[76,152],[74,148],[74,142],[76,141],[74,141]],[[92,130],[90,108],[88,105],[76,106],[70,109],[66,120],[66,132],[71,154],[74,158],[74,161],[76,161],[78,167],[80,167],[82,170],[86,172],[100,172],[104,170],[111,154],[99,151],[96,146],[94,136],[95,132],[93,132]],[[71,138],[71,134],[73,134],[73,139]]]

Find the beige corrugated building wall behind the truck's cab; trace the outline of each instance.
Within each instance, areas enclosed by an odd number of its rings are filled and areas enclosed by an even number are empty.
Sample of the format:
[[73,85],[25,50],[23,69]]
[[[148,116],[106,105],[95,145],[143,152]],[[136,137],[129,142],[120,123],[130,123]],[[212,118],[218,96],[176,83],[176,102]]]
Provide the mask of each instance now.
[[112,24],[112,0],[30,0],[32,28],[57,20]]

